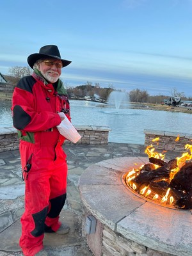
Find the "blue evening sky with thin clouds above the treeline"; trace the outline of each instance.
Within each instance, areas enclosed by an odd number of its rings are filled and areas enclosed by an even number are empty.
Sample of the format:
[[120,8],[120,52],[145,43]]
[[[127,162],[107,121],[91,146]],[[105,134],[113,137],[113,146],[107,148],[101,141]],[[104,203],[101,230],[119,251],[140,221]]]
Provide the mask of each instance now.
[[58,45],[66,87],[192,97],[192,0],[1,0],[0,72]]

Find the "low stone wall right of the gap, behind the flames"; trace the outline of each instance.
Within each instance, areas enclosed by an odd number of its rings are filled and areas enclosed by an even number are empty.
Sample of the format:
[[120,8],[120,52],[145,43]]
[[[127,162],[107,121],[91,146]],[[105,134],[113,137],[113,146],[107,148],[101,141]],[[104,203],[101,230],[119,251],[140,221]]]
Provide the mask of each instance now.
[[[145,147],[154,145],[158,150],[169,150],[175,152],[186,152],[185,145],[192,144],[192,134],[175,133],[166,131],[144,130]],[[155,138],[159,138],[157,142],[153,142]],[[179,140],[177,138],[179,137]]]

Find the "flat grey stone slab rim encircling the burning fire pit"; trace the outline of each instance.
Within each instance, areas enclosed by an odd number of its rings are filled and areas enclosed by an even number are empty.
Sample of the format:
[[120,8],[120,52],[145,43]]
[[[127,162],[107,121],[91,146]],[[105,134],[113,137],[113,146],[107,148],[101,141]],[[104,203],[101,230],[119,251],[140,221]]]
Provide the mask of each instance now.
[[125,188],[122,175],[135,163],[148,163],[148,158],[120,157],[88,167],[79,179],[86,211],[118,236],[146,248],[171,255],[192,255],[191,210],[153,204]]

